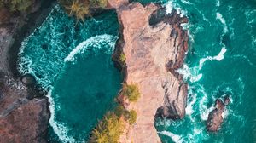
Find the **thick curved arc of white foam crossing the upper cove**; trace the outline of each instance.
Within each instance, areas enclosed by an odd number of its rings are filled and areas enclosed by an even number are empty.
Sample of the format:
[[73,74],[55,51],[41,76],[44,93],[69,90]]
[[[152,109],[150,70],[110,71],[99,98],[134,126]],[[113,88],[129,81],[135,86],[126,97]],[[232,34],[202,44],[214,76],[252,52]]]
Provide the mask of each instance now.
[[113,47],[115,44],[115,43],[113,43],[113,38],[115,38],[115,40],[117,39],[117,37],[113,37],[112,35],[108,35],[108,34],[98,35],[96,37],[90,37],[86,41],[79,43],[79,45],[75,49],[73,49],[70,52],[70,54],[67,55],[67,57],[64,59],[64,61],[65,62],[73,61],[75,54],[83,53],[84,50],[88,49],[88,47],[90,45],[96,45],[96,48],[100,49],[101,45],[99,45],[99,43],[101,43],[101,42],[104,42],[104,43],[107,43],[108,45],[110,45],[110,51],[113,51]]

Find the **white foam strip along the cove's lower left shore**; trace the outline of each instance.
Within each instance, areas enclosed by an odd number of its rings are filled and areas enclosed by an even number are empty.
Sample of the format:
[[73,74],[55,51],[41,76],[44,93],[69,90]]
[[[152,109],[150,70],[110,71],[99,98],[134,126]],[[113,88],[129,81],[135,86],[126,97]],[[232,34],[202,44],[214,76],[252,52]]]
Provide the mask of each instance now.
[[57,121],[55,121],[55,102],[51,96],[51,90],[47,94],[47,97],[50,103],[49,104],[49,112],[51,113],[51,116],[49,118],[50,126],[53,128],[55,134],[58,135],[58,137],[62,142],[74,143],[75,140],[73,139],[73,137],[67,135],[69,131],[67,127],[65,127],[64,124],[58,123]]

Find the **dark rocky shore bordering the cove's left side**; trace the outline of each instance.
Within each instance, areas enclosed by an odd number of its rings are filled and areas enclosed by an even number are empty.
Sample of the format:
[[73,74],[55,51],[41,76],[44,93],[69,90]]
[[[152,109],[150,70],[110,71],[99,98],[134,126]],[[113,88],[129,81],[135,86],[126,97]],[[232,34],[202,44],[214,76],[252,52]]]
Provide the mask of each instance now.
[[[0,9],[0,142],[46,142],[49,121],[47,98],[36,90],[31,75],[17,72],[17,54],[26,34],[33,31],[49,13],[39,0],[28,11],[11,13]],[[22,83],[23,82],[23,83]],[[25,86],[29,86],[26,87]]]

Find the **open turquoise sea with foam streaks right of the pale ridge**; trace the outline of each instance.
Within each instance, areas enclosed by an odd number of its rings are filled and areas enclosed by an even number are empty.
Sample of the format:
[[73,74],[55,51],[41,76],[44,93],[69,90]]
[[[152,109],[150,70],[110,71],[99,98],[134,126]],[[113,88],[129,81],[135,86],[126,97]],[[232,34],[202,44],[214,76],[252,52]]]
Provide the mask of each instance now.
[[[189,83],[186,117],[155,123],[163,142],[256,142],[256,1],[173,0],[189,17],[189,52],[178,72]],[[214,100],[230,94],[218,133],[206,130]]]

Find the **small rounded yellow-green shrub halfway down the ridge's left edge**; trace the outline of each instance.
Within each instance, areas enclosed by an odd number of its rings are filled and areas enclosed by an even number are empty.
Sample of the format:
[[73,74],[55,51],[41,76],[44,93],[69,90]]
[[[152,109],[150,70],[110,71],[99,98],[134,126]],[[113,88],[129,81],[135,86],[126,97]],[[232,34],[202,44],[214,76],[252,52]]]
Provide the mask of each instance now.
[[140,98],[140,92],[137,84],[124,84],[121,94],[127,96],[131,102],[136,102]]

